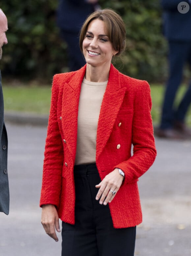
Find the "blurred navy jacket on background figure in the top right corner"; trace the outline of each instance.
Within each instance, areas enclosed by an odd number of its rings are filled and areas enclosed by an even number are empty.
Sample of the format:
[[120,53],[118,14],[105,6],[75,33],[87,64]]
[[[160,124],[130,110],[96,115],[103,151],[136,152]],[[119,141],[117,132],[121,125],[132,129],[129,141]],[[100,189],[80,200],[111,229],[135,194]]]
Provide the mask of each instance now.
[[191,40],[191,4],[188,0],[190,10],[186,14],[181,14],[177,10],[180,0],[162,0],[164,10],[164,35],[168,40],[190,41]]

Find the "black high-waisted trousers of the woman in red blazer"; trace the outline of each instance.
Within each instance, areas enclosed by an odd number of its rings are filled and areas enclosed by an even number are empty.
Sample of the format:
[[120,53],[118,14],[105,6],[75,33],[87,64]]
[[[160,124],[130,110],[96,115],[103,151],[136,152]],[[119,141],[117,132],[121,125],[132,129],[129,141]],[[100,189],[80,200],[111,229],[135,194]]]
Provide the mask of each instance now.
[[136,227],[115,229],[108,205],[95,200],[95,164],[74,166],[75,225],[62,222],[62,256],[133,256]]

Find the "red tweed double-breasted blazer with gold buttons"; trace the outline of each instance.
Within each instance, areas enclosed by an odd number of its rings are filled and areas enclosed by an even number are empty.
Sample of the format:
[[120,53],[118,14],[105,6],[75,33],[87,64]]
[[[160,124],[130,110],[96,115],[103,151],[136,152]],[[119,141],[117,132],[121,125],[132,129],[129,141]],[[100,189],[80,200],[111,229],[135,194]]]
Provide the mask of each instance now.
[[[40,205],[54,204],[59,218],[70,224],[75,223],[73,167],[78,102],[85,72],[86,65],[54,76],[44,153]],[[142,222],[137,181],[156,157],[150,110],[149,84],[121,74],[111,64],[98,120],[96,166],[101,179],[115,167],[125,173],[122,186],[109,203],[115,228]]]

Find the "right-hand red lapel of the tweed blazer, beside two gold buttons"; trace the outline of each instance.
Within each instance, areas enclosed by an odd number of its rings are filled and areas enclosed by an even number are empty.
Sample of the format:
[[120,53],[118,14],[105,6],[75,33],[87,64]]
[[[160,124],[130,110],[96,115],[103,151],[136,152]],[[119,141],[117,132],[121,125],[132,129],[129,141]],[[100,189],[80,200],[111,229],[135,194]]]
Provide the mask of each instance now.
[[106,145],[117,114],[123,102],[126,88],[121,88],[119,71],[111,64],[108,84],[103,96],[99,114],[96,139],[96,161]]

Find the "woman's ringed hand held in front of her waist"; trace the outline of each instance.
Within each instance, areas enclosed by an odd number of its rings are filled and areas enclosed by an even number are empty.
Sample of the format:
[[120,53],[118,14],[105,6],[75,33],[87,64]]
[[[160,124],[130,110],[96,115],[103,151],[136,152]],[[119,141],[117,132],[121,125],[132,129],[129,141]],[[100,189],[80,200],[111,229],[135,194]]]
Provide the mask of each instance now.
[[114,169],[112,172],[107,174],[98,185],[95,186],[96,188],[99,188],[95,199],[100,199],[100,204],[106,205],[108,202],[110,203],[121,187],[122,182],[123,176],[119,174],[118,169]]

